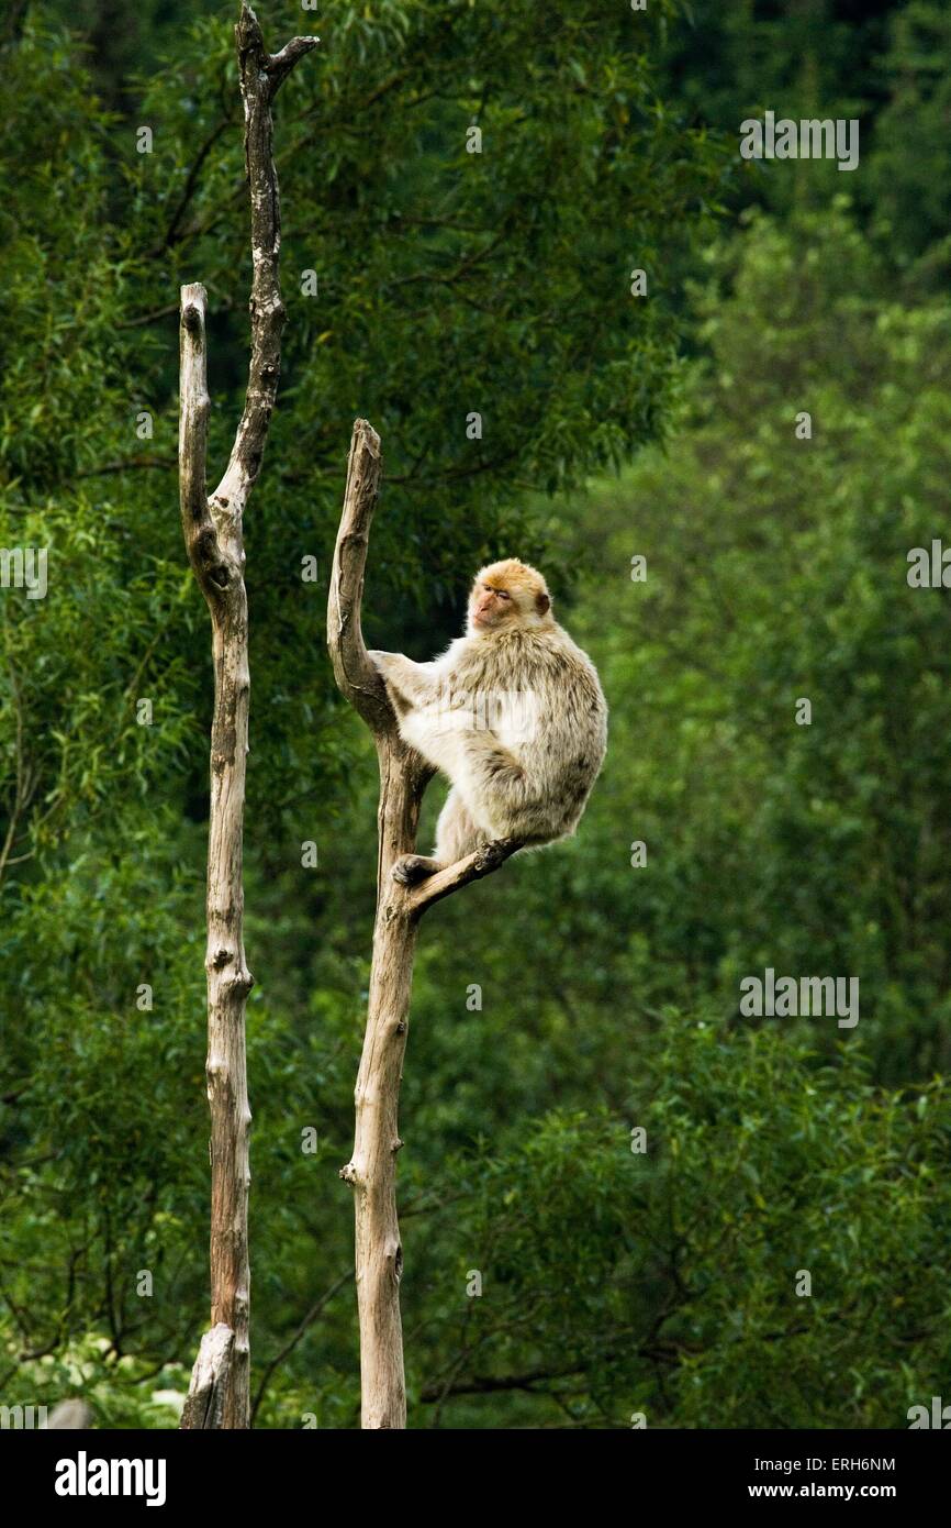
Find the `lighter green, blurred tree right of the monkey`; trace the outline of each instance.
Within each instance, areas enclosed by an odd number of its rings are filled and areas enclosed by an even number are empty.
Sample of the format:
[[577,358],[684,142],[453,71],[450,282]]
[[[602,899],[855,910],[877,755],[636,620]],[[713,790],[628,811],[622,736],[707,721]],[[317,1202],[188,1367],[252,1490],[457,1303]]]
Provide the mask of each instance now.
[[907,553],[940,530],[951,313],[885,295],[841,206],[754,219],[713,267],[685,431],[586,516],[617,573],[591,639],[629,831],[603,853],[650,845],[638,990],[852,972],[882,1076],[943,1068],[948,656]]

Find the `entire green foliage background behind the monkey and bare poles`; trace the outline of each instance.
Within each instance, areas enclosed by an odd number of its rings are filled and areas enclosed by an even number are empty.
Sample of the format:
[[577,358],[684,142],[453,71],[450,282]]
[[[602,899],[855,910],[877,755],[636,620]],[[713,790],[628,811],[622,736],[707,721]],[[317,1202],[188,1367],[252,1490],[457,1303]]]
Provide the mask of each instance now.
[[[177,289],[209,289],[214,472],[247,359],[234,9],[20,0],[0,34],[0,545],[49,547],[46,599],[0,591],[0,1400],[82,1392],[101,1426],[174,1426],[206,1322]],[[337,1169],[376,778],[324,610],[365,414],[368,636],[429,657],[517,553],[612,709],[579,837],[420,941],[411,1426],[901,1427],[951,1331],[948,616],[905,579],[951,475],[948,12],[260,14],[322,43],[276,112],[289,325],[246,526],[255,1424],[359,1418]],[[858,116],[859,168],[742,162],[766,108]],[[765,966],[858,976],[858,1027],[740,1019]]]

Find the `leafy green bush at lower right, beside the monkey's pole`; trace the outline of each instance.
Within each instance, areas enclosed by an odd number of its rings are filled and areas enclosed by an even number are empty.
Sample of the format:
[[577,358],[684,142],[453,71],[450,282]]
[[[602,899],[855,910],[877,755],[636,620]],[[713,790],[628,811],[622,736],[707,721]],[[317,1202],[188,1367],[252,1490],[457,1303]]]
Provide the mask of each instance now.
[[902,1426],[946,1355],[951,1114],[937,1082],[866,1073],[850,1047],[821,1065],[667,1015],[623,1117],[554,1111],[456,1164],[470,1193],[427,1227],[423,1400],[458,1427],[488,1406],[495,1426]]

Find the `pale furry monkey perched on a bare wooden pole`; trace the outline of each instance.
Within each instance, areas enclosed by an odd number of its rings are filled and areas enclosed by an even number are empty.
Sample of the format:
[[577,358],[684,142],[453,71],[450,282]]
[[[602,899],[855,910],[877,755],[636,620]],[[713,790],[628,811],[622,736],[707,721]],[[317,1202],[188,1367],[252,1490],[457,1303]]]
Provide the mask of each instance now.
[[434,856],[405,854],[398,882],[412,886],[498,839],[540,848],[575,831],[604,759],[608,706],[536,568],[517,558],[484,567],[466,634],[432,663],[369,659],[400,736],[452,787]]

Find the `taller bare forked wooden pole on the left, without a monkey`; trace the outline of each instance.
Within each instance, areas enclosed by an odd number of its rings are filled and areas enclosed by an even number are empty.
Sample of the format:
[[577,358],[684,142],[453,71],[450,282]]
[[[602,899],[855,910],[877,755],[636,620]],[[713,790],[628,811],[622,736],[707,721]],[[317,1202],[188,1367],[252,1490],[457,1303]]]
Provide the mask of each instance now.
[[215,709],[208,825],[208,1100],[211,1108],[211,1331],[192,1371],[182,1427],[250,1426],[250,1265],[247,1189],[250,1108],[244,1010],[253,978],[244,957],[244,770],[247,756],[247,594],[243,515],[261,471],[281,373],[281,203],[270,104],[318,38],[264,50],[253,11],[235,26],[250,191],[250,367],[224,477],[208,497],[206,292],[182,287],[179,486],[188,556],[212,623]]

